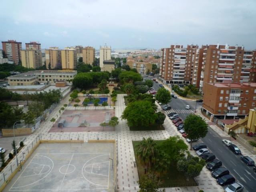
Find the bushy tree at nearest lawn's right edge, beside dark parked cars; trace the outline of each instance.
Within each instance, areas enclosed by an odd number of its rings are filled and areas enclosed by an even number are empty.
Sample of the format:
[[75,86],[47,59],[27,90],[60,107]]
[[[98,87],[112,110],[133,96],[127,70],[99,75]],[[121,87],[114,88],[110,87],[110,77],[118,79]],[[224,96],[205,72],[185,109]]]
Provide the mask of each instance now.
[[195,178],[200,174],[205,165],[205,160],[188,154],[177,161],[177,170],[183,172],[187,179]]

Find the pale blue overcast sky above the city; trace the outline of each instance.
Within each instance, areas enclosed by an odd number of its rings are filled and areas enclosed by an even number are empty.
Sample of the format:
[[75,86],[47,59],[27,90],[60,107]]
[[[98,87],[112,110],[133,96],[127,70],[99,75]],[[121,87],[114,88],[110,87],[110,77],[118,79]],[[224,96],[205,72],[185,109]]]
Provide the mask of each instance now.
[[[4,0],[0,40],[49,46],[256,49],[256,0]],[[1,44],[2,46],[2,44]]]

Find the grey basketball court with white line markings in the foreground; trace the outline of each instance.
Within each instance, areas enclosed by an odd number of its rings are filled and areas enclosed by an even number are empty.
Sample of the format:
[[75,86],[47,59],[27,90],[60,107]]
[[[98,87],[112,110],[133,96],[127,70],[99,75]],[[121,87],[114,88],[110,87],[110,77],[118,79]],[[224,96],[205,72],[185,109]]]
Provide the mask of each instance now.
[[40,144],[4,192],[112,192],[114,143]]

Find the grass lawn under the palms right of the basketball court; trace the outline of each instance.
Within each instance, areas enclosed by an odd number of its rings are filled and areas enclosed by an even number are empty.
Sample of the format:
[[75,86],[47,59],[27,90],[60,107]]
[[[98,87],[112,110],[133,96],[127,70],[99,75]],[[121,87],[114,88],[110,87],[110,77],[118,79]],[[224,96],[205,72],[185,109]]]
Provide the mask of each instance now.
[[[138,160],[138,157],[136,156],[136,153],[137,153],[136,146],[139,144],[139,142],[140,141],[133,141],[133,149],[135,153],[138,174],[140,177],[144,174],[144,166],[140,163],[140,161]],[[157,140],[155,142],[157,144],[160,144],[163,141]],[[160,188],[196,186],[196,182],[193,179],[189,179],[189,181],[186,180],[187,178],[177,170],[175,164],[171,164],[171,166],[169,167],[169,170],[167,170],[167,173],[161,174],[160,179],[162,181]]]

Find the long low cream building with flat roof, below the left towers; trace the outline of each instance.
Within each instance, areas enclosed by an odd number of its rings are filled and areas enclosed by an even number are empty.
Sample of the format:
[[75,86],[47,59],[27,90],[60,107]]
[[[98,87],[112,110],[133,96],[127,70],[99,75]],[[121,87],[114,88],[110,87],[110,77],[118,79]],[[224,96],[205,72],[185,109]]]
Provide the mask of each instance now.
[[37,85],[40,83],[56,83],[69,81],[77,75],[77,71],[36,70],[8,77],[10,86]]

